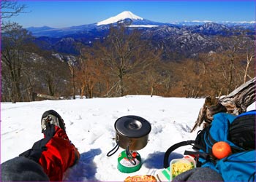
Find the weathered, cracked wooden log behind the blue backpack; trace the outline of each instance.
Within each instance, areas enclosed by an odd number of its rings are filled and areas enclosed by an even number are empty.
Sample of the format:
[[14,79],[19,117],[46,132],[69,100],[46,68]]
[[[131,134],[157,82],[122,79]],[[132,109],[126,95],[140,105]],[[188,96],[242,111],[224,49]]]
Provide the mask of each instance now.
[[206,97],[205,103],[200,108],[197,120],[190,132],[195,131],[201,124],[203,124],[203,128],[208,126],[212,122],[214,114],[219,112],[235,115],[246,112],[246,108],[255,102],[255,81],[256,77],[220,99],[212,96]]

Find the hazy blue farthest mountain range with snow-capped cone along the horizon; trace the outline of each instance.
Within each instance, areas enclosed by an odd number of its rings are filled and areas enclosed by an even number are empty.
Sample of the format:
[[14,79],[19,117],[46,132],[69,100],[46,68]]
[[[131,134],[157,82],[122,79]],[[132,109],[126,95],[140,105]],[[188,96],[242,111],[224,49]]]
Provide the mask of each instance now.
[[[85,33],[89,31],[102,30],[108,28],[110,24],[116,23],[127,23],[131,28],[156,28],[162,25],[170,25],[170,26],[191,26],[191,25],[203,25],[205,23],[214,23],[211,21],[183,21],[183,22],[173,22],[173,23],[159,23],[151,20],[146,20],[143,17],[139,17],[138,15],[134,15],[132,12],[125,11],[120,14],[110,17],[106,20],[102,20],[98,23],[92,23],[89,25],[79,25],[79,26],[71,26],[67,28],[51,28],[48,26],[42,27],[29,27],[26,28],[28,31],[34,36],[50,36],[50,37],[62,37],[75,33]],[[217,24],[226,25],[229,27],[238,26],[239,28],[254,28],[255,22],[221,22]]]

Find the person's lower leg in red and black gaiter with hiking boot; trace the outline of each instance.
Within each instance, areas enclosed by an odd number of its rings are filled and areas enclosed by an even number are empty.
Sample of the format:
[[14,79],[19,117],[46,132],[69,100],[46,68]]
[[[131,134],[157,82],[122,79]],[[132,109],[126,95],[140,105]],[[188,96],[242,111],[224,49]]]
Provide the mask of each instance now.
[[20,154],[38,162],[50,178],[61,181],[64,172],[78,162],[80,154],[69,141],[61,116],[53,110],[42,114],[41,127],[45,136],[34,143],[32,149]]

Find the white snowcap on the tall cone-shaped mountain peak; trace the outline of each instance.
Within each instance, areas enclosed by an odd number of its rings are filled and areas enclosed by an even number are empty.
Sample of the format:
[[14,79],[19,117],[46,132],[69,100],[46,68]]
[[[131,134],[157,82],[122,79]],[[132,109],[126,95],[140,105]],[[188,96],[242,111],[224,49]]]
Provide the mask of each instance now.
[[111,23],[117,23],[118,21],[125,20],[127,18],[132,19],[132,20],[143,20],[142,17],[134,15],[132,12],[124,11],[114,17],[110,17],[106,20],[100,21],[99,23],[97,23],[97,25],[108,25]]

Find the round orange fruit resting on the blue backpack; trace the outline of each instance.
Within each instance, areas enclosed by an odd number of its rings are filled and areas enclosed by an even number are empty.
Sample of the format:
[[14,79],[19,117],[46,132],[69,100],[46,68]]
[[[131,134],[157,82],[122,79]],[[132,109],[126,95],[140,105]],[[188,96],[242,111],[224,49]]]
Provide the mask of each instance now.
[[219,141],[214,143],[212,146],[212,154],[214,154],[217,159],[222,159],[229,156],[232,153],[230,145],[225,141]]

